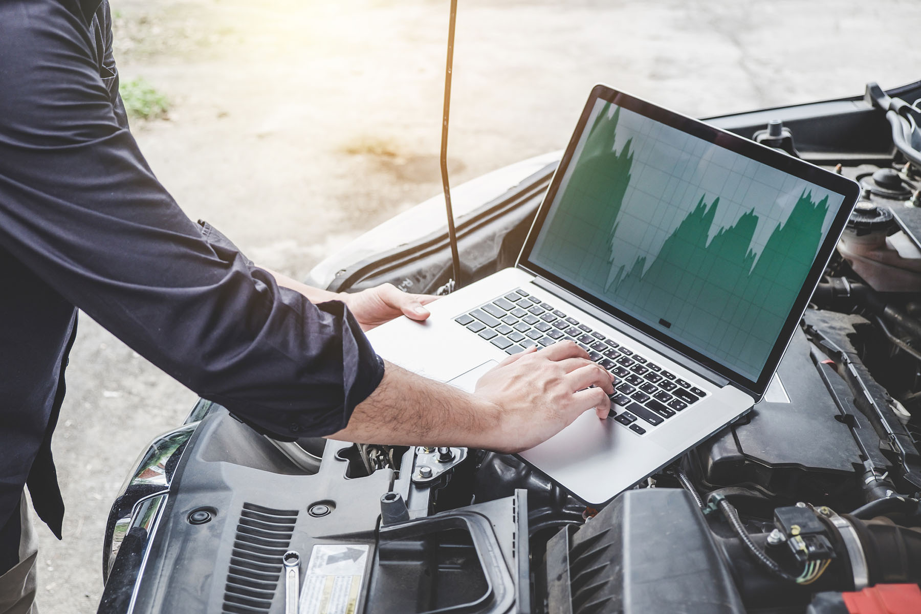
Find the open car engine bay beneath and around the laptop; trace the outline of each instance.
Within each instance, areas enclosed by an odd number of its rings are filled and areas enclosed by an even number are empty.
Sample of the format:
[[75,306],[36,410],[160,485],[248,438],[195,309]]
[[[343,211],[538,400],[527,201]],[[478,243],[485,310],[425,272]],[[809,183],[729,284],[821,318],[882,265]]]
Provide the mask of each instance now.
[[[877,128],[880,110],[921,118],[880,94]],[[806,129],[787,126],[751,137],[800,155]],[[892,142],[812,156],[862,196],[764,400],[603,507],[514,455],[278,442],[201,400],[112,507],[99,611],[283,612],[292,569],[299,614],[918,611],[921,161]],[[507,266],[541,185],[472,276]],[[391,259],[332,289],[415,266],[414,292],[433,291],[442,264]]]

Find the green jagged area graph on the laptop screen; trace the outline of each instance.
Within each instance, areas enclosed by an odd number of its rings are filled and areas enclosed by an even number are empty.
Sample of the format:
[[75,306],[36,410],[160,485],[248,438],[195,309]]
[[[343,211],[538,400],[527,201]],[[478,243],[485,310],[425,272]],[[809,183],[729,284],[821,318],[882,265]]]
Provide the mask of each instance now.
[[[636,172],[633,138],[622,135],[620,151],[615,147],[620,118],[619,107],[610,113],[605,106],[593,122],[559,197],[562,214],[550,221],[548,240],[538,246],[539,261],[685,344],[757,376],[822,244],[828,196],[814,197],[817,186],[804,181],[795,203],[775,220],[747,203],[729,211],[739,205],[721,207],[720,195],[707,199],[698,191],[702,195],[659,231],[664,240],[655,245],[658,252],[635,249],[627,252],[635,254],[632,261],[615,261],[618,242],[623,255],[624,241],[632,238],[618,237],[618,228]],[[673,206],[668,211],[674,216]],[[648,216],[648,225],[659,223],[655,214]],[[760,222],[773,225],[762,233],[766,240],[756,240]]]

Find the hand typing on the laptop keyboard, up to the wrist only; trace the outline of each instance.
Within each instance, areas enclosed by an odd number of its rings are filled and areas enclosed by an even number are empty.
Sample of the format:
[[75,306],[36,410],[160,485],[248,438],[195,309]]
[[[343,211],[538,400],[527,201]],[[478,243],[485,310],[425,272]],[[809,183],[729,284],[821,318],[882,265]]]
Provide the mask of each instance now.
[[[500,427],[486,445],[503,452],[537,446],[584,411],[611,411],[614,377],[574,342],[557,342],[509,356],[476,383],[474,394],[495,404]],[[589,388],[594,387],[594,388]]]

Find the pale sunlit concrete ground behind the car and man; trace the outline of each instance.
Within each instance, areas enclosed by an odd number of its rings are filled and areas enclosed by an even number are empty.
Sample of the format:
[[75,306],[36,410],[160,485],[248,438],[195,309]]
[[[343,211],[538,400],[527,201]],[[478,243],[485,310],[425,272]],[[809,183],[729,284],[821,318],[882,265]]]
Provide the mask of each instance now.
[[[447,0],[111,0],[122,80],[166,94],[134,122],[159,179],[257,262],[303,277],[436,194]],[[464,0],[453,182],[562,148],[604,81],[703,116],[921,78],[913,0]],[[194,393],[90,319],[54,439],[64,541],[41,527],[43,612],[93,612],[112,499]]]

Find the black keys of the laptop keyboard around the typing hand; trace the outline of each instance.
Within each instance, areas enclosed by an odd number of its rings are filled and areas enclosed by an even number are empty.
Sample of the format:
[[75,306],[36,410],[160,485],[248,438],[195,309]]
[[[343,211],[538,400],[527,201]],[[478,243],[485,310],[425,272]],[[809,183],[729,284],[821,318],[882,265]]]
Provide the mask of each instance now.
[[608,417],[635,434],[646,434],[709,394],[521,289],[454,321],[509,354],[531,345],[576,342],[592,361],[617,377]]

